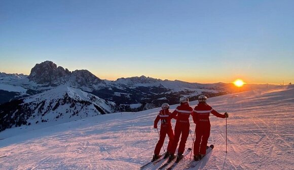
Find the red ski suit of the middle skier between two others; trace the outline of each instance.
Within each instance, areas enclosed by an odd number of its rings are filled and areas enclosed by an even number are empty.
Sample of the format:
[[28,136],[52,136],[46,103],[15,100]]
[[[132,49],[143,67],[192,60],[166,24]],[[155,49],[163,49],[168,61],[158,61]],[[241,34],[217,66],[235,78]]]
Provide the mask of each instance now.
[[181,103],[180,106],[172,112],[172,118],[176,118],[176,123],[174,127],[174,140],[170,154],[174,154],[177,143],[179,141],[179,136],[181,134],[181,139],[178,146],[177,153],[182,154],[185,151],[186,141],[189,136],[190,122],[189,117],[192,114],[193,109],[189,106],[189,103]]

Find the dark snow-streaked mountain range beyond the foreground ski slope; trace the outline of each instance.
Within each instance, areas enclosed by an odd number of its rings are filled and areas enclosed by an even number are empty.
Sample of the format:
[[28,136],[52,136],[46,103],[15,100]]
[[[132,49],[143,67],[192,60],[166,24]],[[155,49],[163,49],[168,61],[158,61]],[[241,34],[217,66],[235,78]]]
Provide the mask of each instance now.
[[181,96],[196,100],[201,94],[213,97],[252,88],[266,85],[236,89],[231,83],[200,84],[145,76],[108,81],[87,70],[70,72],[45,61],[36,64],[28,76],[0,72],[0,131],[31,123],[141,111],[162,103],[173,105]]

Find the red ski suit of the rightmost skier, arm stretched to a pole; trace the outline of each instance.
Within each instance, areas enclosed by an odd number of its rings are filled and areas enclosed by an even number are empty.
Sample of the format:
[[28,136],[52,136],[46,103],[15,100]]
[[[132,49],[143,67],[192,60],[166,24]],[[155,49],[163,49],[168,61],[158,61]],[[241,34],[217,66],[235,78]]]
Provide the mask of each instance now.
[[199,152],[203,155],[206,154],[206,145],[210,135],[210,113],[212,113],[216,117],[225,118],[225,115],[219,114],[205,102],[200,102],[194,108],[192,114],[193,121],[196,124],[196,140],[194,142],[194,155],[199,155]]

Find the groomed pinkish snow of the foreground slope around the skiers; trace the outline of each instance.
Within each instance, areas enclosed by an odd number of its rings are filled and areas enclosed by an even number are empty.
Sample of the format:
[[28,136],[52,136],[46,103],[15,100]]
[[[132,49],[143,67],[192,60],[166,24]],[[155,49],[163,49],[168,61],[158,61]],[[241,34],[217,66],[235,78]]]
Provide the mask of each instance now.
[[[228,153],[226,121],[212,115],[208,144],[215,147],[194,169],[294,169],[293,85],[207,102],[216,111],[230,114]],[[158,140],[153,122],[159,110],[106,114],[46,128],[7,129],[0,132],[0,139],[5,133],[11,135],[0,140],[0,169],[139,169],[152,158]],[[165,148],[167,142],[166,138]],[[192,147],[190,136],[188,147]],[[175,169],[184,168],[179,164]]]

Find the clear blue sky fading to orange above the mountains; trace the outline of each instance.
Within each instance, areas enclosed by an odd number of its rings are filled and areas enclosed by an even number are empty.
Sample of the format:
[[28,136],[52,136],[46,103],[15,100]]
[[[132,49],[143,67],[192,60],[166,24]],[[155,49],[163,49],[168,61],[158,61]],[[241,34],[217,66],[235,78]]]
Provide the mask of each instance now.
[[0,1],[0,72],[294,83],[294,1]]

